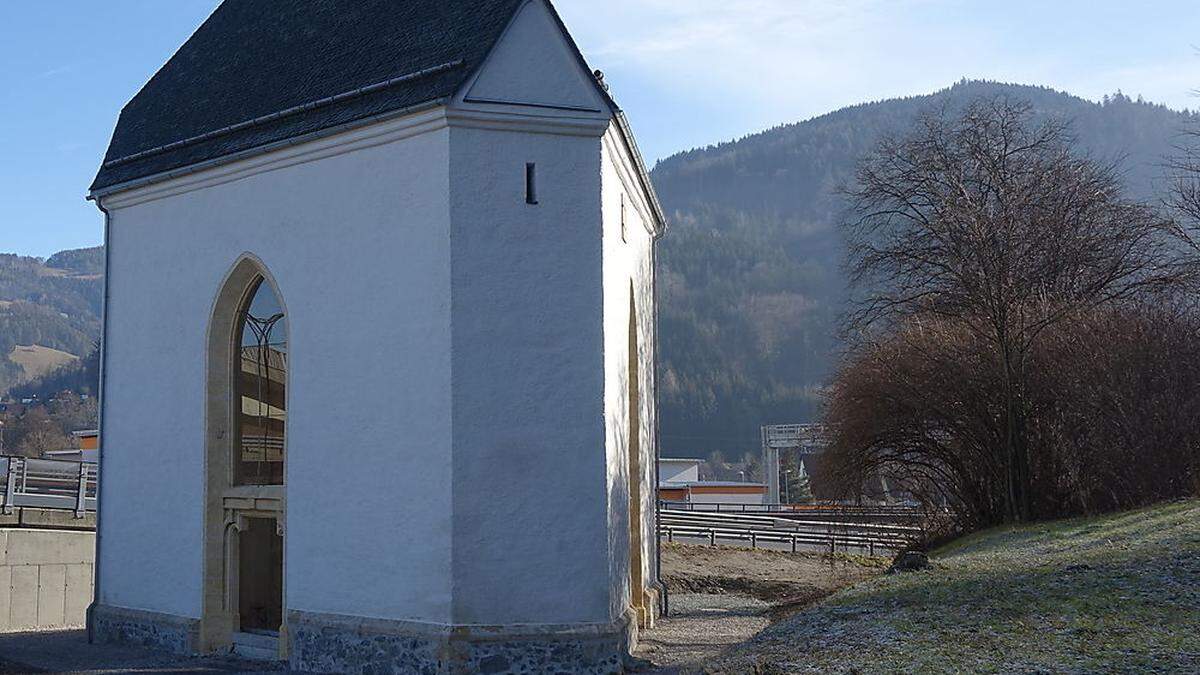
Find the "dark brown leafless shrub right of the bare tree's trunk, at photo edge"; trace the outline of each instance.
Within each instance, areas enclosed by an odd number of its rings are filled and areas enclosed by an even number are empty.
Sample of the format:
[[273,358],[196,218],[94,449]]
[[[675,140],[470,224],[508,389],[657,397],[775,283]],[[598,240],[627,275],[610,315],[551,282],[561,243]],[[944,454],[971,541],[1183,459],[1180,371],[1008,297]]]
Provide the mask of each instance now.
[[1196,494],[1200,319],[1172,303],[1092,311],[1039,344],[1031,425],[1043,516]]

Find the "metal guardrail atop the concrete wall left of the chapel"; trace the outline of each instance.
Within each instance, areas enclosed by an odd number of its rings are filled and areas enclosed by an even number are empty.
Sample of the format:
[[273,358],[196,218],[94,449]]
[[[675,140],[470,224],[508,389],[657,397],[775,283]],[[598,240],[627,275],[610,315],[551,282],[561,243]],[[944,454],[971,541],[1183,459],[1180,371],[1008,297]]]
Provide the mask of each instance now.
[[96,510],[95,462],[0,456],[0,504],[14,508],[73,510],[76,518]]

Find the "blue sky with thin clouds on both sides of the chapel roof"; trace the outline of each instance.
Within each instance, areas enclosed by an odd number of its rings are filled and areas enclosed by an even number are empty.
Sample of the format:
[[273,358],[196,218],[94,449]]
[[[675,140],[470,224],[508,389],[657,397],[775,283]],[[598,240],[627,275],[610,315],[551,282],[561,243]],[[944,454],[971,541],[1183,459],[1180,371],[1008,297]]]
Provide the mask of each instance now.
[[[83,196],[121,106],[217,0],[0,0],[0,252],[98,244]],[[1175,108],[1200,98],[1200,2],[558,0],[649,162],[962,78]]]

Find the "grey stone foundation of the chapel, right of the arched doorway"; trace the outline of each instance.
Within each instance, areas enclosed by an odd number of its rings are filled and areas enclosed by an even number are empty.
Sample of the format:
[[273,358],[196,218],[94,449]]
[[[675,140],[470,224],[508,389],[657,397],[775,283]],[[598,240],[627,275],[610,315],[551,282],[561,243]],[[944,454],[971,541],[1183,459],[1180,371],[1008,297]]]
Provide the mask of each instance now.
[[606,627],[522,627],[517,632],[288,613],[290,667],[312,673],[620,673],[630,629],[628,621]]

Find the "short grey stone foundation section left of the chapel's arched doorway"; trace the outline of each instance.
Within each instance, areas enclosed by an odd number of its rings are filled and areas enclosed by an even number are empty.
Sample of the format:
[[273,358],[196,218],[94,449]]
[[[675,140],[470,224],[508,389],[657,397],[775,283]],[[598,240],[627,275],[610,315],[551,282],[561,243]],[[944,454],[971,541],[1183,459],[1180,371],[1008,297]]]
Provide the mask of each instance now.
[[97,604],[88,610],[88,635],[97,644],[190,655],[196,653],[199,634],[198,619]]

